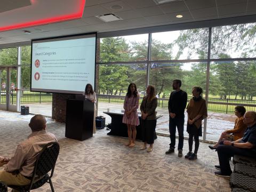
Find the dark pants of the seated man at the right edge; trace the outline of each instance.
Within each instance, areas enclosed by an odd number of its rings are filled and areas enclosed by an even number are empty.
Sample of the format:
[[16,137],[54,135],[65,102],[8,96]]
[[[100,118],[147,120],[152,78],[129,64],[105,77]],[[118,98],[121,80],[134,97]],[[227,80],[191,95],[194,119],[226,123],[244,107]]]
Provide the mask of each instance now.
[[220,142],[220,145],[217,147],[219,162],[220,162],[220,170],[222,174],[229,175],[232,173],[229,158],[234,155],[243,155],[247,157],[254,157],[255,154],[252,153],[250,149],[243,149],[229,145],[223,145],[223,141]]

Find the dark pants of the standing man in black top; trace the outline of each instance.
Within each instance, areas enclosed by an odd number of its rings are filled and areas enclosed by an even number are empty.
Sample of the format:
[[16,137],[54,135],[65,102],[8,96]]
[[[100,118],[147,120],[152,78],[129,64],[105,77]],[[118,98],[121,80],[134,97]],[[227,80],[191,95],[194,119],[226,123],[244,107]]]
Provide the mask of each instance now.
[[174,149],[175,148],[175,135],[176,135],[176,126],[178,129],[179,133],[179,144],[178,144],[178,150],[182,150],[183,148],[183,141],[184,141],[184,116],[181,117],[175,117],[171,118],[169,120],[169,132],[170,132],[170,148]]

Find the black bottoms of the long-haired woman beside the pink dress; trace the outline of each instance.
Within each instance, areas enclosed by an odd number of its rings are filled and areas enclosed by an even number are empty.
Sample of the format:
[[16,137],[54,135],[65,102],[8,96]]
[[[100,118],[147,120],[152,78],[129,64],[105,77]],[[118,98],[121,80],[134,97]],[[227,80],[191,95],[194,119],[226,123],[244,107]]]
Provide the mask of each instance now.
[[155,140],[156,119],[141,119],[142,141],[153,144]]

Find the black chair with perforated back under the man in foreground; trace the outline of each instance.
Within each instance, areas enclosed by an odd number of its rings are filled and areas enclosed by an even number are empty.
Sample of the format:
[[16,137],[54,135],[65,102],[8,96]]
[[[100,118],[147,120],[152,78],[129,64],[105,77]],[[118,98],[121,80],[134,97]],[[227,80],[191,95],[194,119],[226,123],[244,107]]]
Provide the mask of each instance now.
[[[58,142],[48,143],[38,154],[30,184],[26,186],[10,185],[8,187],[20,192],[27,192],[33,189],[37,189],[47,182],[50,184],[52,192],[54,192],[51,178],[54,172],[54,167],[59,155],[59,151],[60,146]],[[51,175],[49,176],[48,172],[50,171]],[[41,179],[38,180],[38,178]]]

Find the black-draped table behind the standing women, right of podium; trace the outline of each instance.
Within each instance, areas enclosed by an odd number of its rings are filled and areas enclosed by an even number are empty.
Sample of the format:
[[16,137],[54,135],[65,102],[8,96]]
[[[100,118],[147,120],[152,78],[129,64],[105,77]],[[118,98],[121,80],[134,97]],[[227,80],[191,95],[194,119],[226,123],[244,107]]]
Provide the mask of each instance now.
[[[124,113],[118,112],[118,111],[109,111],[109,112],[105,111],[103,113],[105,113],[111,117],[111,131],[108,132],[107,134],[128,138],[127,126],[126,126],[126,124],[122,123]],[[163,117],[163,115],[156,116],[156,119],[158,119],[160,117]],[[139,115],[139,120],[141,122],[141,115]],[[138,126],[136,126],[136,130],[137,130],[136,139],[142,140],[140,124]],[[155,139],[156,138],[157,138],[157,136],[155,133]]]

